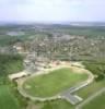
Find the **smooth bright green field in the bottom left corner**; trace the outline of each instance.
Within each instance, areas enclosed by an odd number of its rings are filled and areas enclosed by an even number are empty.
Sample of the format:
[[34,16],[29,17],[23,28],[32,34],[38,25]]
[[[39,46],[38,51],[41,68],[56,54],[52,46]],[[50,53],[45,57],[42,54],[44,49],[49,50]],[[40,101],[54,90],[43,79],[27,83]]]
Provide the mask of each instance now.
[[21,109],[18,99],[8,85],[0,86],[0,109]]

